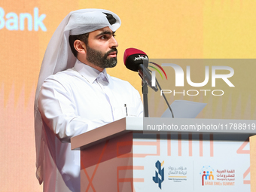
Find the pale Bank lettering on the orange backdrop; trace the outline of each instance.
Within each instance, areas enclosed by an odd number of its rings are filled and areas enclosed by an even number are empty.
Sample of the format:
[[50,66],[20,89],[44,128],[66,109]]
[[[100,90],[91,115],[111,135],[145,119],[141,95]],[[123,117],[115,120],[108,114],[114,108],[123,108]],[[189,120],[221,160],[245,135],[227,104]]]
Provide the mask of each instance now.
[[46,17],[45,14],[39,15],[38,8],[34,8],[34,14],[23,13],[23,14],[16,14],[14,12],[10,12],[5,14],[5,10],[0,8],[0,29],[4,27],[10,31],[13,30],[20,30],[23,31],[26,27],[29,31],[33,29],[38,31],[41,28],[42,31],[46,32],[47,29],[44,26],[44,18]]

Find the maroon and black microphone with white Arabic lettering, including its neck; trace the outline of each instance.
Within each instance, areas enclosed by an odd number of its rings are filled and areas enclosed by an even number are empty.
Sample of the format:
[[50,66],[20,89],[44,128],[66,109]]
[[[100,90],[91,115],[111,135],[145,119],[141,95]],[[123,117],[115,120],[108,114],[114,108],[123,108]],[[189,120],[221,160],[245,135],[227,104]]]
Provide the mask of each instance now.
[[123,62],[127,69],[139,72],[139,76],[144,79],[148,86],[157,91],[157,86],[152,86],[152,77],[148,72],[148,56],[142,50],[129,48],[124,51]]

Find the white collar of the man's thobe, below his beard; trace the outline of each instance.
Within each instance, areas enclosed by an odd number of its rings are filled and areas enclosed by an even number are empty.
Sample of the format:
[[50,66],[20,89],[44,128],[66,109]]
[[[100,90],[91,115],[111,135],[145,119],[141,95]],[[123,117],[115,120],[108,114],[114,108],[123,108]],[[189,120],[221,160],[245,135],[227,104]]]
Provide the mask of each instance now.
[[99,72],[97,69],[94,69],[91,66],[87,66],[83,62],[77,61],[74,66],[75,70],[82,75],[90,84],[93,84],[96,79],[102,79],[105,82],[109,83],[108,74],[105,69],[102,72]]

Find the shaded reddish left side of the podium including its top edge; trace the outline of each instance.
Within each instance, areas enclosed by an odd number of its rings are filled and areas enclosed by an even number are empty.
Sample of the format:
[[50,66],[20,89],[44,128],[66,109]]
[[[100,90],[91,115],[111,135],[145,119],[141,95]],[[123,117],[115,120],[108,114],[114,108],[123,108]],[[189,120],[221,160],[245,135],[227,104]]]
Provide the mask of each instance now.
[[81,191],[134,191],[133,133],[142,132],[142,118],[126,117],[72,138],[81,150]]

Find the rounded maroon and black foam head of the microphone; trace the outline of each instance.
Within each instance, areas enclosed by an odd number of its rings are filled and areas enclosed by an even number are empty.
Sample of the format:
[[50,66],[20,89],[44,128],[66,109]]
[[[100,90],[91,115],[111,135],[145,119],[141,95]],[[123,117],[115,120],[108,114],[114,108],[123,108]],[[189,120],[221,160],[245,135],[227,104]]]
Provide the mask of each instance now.
[[[146,61],[143,63],[143,61]],[[129,48],[124,51],[123,62],[127,69],[138,72],[139,65],[144,64],[148,68],[148,56],[142,50]]]

